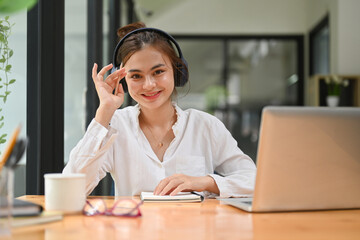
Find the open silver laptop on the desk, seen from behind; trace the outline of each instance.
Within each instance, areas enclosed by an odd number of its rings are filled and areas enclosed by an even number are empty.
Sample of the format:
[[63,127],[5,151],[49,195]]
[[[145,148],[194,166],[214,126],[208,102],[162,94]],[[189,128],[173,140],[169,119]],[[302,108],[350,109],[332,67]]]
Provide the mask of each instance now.
[[360,108],[266,107],[249,212],[360,208]]

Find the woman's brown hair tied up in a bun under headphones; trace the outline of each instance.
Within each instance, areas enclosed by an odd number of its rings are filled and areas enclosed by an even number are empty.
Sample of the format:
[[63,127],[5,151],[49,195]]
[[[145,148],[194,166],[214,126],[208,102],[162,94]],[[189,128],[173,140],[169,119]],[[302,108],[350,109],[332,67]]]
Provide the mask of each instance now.
[[[121,27],[117,31],[117,35],[120,39],[122,39],[126,34],[132,32],[139,28],[145,28],[145,24],[142,22],[135,22],[124,27]],[[177,82],[175,72],[179,71],[179,66],[185,68],[187,71],[187,66],[183,63],[183,61],[176,54],[176,51],[171,44],[170,40],[166,38],[164,35],[154,32],[154,31],[141,31],[128,36],[125,41],[122,43],[118,50],[117,62],[122,62],[123,65],[129,60],[129,58],[137,51],[143,49],[145,46],[152,46],[158,51],[164,53],[170,59],[173,72],[174,72],[174,80]]]

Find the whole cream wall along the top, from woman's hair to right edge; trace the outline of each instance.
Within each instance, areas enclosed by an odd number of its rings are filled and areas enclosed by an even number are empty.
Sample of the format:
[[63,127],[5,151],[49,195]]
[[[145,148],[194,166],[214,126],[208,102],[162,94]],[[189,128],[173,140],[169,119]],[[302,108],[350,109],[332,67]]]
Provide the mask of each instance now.
[[[143,1],[136,1],[138,8]],[[164,11],[154,11],[151,17],[140,17],[148,26],[170,33],[307,36],[329,13],[330,71],[360,74],[359,9],[359,0],[183,0]],[[307,52],[305,43],[305,59]],[[307,65],[305,62],[306,72]]]

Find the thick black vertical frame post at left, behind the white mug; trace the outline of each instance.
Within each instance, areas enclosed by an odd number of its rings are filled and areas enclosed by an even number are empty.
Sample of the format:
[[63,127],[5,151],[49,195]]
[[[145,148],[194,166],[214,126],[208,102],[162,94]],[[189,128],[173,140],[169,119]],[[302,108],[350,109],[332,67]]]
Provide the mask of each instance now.
[[64,168],[64,0],[39,0],[27,21],[26,194]]

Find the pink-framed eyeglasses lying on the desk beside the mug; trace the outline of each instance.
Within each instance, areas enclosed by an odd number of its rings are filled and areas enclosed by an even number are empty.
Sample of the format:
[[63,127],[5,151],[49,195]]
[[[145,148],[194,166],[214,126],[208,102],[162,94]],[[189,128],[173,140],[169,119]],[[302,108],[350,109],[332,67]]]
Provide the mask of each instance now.
[[142,203],[143,201],[136,202],[132,199],[121,199],[116,201],[111,208],[107,208],[103,199],[89,199],[86,200],[83,213],[87,216],[140,217],[140,205]]

